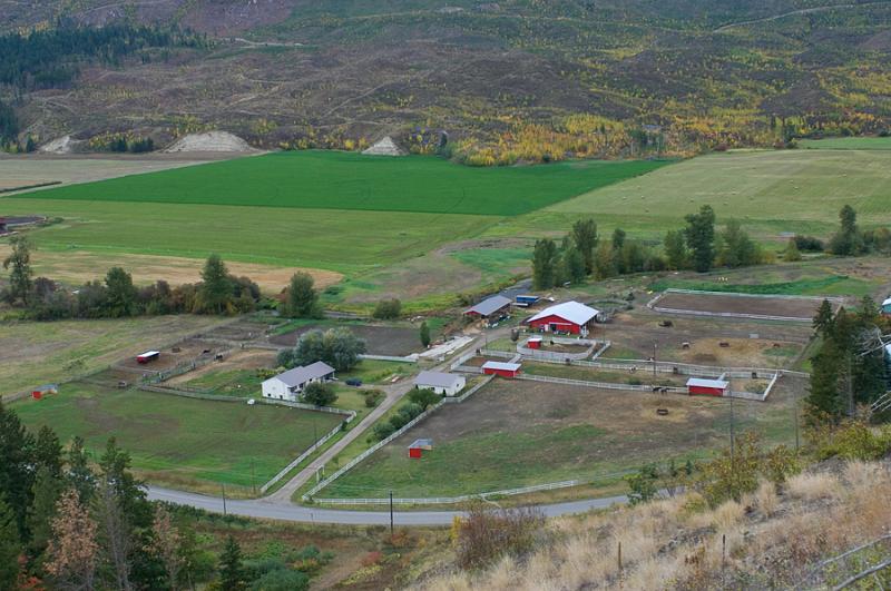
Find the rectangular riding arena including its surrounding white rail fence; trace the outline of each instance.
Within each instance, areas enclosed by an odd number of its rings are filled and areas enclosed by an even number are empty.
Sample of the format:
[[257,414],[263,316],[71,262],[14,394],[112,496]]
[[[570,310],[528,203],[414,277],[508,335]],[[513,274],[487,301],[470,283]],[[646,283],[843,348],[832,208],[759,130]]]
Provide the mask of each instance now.
[[812,296],[753,295],[724,292],[667,289],[647,307],[666,314],[748,318],[758,321],[811,322],[823,299],[838,307],[839,298]]

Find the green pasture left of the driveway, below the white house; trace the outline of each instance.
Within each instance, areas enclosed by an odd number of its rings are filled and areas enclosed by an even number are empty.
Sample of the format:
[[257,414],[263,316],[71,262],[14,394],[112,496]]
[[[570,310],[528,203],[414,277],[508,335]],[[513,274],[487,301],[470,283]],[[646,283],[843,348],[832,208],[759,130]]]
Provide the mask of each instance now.
[[[343,417],[244,401],[215,402],[75,382],[11,406],[32,431],[51,426],[101,454],[108,437],[156,484],[200,490],[206,481],[260,486]],[[254,476],[252,477],[252,465]],[[203,484],[203,481],[205,484]],[[218,489],[214,489],[218,492]]]

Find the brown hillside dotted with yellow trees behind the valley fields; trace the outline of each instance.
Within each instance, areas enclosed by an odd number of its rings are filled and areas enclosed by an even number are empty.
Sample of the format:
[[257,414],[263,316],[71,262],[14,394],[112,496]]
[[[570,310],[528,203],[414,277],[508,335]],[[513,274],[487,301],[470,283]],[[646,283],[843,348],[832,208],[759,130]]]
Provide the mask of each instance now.
[[207,41],[81,56],[70,88],[3,87],[20,135],[45,140],[225,128],[286,148],[390,134],[424,152],[444,130],[457,159],[505,164],[874,134],[891,118],[891,2],[0,3],[7,31],[59,19]]

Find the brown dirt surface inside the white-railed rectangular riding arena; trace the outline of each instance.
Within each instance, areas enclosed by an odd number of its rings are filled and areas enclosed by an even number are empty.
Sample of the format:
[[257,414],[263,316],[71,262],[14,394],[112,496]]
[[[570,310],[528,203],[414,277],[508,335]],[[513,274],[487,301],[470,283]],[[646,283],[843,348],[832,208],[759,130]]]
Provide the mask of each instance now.
[[816,298],[758,297],[736,294],[682,294],[666,292],[655,304],[663,311],[745,316],[781,316],[810,321],[820,307]]

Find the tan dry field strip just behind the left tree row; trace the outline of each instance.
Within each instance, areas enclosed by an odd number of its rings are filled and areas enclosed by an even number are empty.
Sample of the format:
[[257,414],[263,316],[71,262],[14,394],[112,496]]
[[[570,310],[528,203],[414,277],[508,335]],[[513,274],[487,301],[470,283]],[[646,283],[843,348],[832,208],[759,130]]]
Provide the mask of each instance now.
[[[0,244],[0,259],[6,258],[10,247]],[[204,260],[197,258],[129,255],[121,253],[90,253],[86,250],[36,250],[31,255],[35,273],[68,284],[82,284],[105,276],[110,267],[124,267],[133,275],[137,285],[149,285],[164,279],[172,285],[200,280]],[[333,270],[302,267],[271,267],[252,263],[227,262],[229,273],[246,276],[256,282],[270,295],[278,294],[297,272],[313,276],[319,288],[340,282],[343,277]]]

